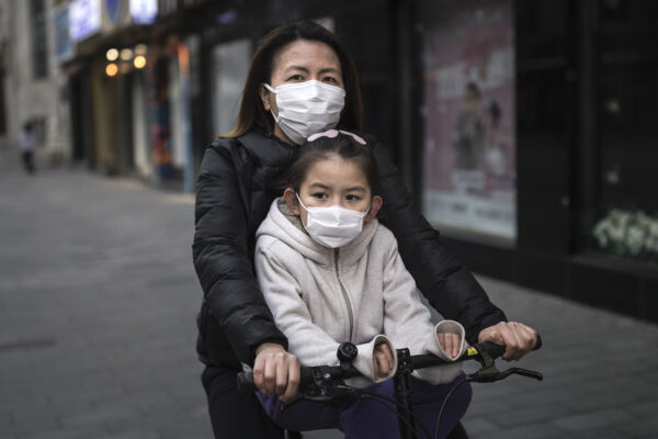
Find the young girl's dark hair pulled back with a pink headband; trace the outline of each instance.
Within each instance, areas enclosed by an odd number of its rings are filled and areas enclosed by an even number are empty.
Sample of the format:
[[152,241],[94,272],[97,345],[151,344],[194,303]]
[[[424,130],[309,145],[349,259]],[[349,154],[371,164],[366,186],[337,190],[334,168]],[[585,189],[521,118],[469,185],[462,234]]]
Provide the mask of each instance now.
[[363,170],[371,188],[371,194],[378,194],[379,178],[371,148],[356,142],[350,134],[338,133],[336,137],[321,136],[304,144],[299,149],[297,160],[284,176],[283,188],[293,188],[295,192],[299,193],[299,188],[311,166],[320,160],[338,156],[343,160],[353,162]]

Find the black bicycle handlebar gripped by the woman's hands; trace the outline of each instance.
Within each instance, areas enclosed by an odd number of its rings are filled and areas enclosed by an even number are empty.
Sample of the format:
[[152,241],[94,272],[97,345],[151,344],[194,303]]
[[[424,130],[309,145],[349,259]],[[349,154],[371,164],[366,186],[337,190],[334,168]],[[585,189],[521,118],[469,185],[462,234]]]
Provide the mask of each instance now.
[[[537,342],[533,350],[537,350],[542,347],[542,338],[537,334]],[[467,348],[466,351],[456,360],[447,361],[443,360],[431,353],[411,356],[410,368],[412,370],[427,369],[435,365],[452,364],[454,362],[462,362],[466,360],[478,360],[481,361],[483,357],[488,356],[489,359],[495,360],[504,353],[506,347],[497,345],[490,341],[484,344],[475,344]],[[300,368],[299,385],[310,384],[320,379],[324,381],[330,380],[347,380],[350,378],[363,376],[361,372],[353,365],[343,369],[340,365],[310,365]],[[238,392],[251,393],[256,391],[253,383],[253,372],[240,372],[237,376]]]

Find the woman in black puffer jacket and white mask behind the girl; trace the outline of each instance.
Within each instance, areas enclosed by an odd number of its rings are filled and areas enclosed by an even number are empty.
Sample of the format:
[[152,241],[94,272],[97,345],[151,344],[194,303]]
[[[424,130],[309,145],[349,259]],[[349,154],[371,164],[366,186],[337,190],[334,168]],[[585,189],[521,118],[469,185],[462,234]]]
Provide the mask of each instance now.
[[[281,438],[282,430],[254,395],[241,395],[236,374],[252,365],[257,387],[287,401],[296,394],[298,360],[253,274],[254,234],[296,145],[334,127],[360,130],[362,101],[354,64],[340,42],[313,22],[279,27],[257,48],[242,90],[238,121],[204,156],[195,207],[194,268],[204,291],[197,352],[215,437]],[[445,317],[460,322],[467,340],[508,346],[506,359],[534,347],[531,328],[507,323],[473,275],[443,248],[420,215],[397,169],[375,139],[387,226],[420,291]]]

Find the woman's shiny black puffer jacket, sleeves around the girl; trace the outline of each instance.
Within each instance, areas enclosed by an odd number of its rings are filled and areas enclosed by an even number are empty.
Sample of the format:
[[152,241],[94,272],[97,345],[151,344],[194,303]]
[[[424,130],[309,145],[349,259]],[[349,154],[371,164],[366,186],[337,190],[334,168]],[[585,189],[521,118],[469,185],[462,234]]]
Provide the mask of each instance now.
[[[432,306],[460,322],[467,339],[476,341],[481,329],[504,320],[504,314],[446,252],[439,233],[413,205],[384,147],[364,137],[377,160],[386,225],[398,240],[407,269]],[[237,139],[216,140],[205,153],[196,187],[192,254],[204,293],[197,352],[206,364],[252,365],[263,342],[287,348],[259,290],[252,261],[256,230],[281,195],[280,179],[296,151],[297,147],[271,133],[254,130]]]

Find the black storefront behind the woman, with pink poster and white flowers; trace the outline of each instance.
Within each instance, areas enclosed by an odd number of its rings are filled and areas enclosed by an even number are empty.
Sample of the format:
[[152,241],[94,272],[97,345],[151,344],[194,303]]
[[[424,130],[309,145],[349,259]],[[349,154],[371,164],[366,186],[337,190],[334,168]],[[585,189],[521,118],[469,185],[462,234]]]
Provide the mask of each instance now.
[[[356,63],[365,130],[468,268],[658,318],[658,4],[250,4],[207,14],[207,139],[230,126],[227,85],[246,68],[249,42],[283,22],[321,20]],[[230,71],[224,59],[237,60]]]

